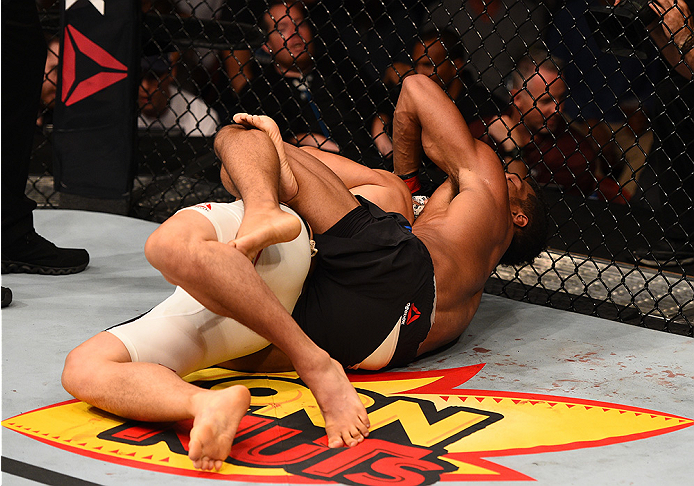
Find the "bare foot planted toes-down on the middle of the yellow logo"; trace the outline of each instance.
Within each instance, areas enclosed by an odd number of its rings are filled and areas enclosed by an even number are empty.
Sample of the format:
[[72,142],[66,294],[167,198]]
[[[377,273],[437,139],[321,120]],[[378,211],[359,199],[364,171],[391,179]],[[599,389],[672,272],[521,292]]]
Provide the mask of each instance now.
[[330,358],[324,369],[314,366],[299,376],[311,389],[323,413],[328,447],[354,447],[368,437],[370,423],[366,408],[340,363]]

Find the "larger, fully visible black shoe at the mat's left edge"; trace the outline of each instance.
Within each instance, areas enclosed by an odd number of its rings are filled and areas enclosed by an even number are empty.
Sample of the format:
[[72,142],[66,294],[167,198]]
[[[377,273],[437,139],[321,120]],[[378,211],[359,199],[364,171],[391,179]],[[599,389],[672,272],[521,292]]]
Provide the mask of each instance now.
[[81,272],[88,264],[87,250],[58,248],[35,231],[2,249],[2,273],[69,275]]

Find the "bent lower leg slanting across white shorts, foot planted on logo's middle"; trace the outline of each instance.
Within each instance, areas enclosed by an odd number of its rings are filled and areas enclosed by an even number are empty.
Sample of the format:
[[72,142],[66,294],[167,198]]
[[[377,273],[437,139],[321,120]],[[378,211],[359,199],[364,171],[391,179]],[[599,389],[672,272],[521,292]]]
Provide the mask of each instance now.
[[353,446],[368,435],[366,409],[342,367],[301,330],[249,259],[238,248],[217,241],[206,218],[193,211],[177,213],[150,236],[145,252],[171,283],[289,357],[316,397],[331,447]]

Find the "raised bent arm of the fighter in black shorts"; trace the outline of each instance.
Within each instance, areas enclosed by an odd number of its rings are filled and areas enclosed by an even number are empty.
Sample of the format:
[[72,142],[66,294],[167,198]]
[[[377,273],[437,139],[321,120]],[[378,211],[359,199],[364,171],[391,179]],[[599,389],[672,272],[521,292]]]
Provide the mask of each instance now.
[[403,80],[393,121],[393,165],[398,175],[416,172],[422,151],[449,177],[460,182],[467,173],[480,173],[498,157],[476,140],[455,104],[424,75]]

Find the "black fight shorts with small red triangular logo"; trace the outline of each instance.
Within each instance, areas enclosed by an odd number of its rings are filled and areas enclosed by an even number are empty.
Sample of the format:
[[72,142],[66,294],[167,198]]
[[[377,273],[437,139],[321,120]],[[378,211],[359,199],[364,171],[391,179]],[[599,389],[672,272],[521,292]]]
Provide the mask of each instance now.
[[411,362],[431,328],[434,266],[400,214],[358,197],[355,208],[321,235],[293,317],[343,366],[361,363],[401,326],[387,367]]

